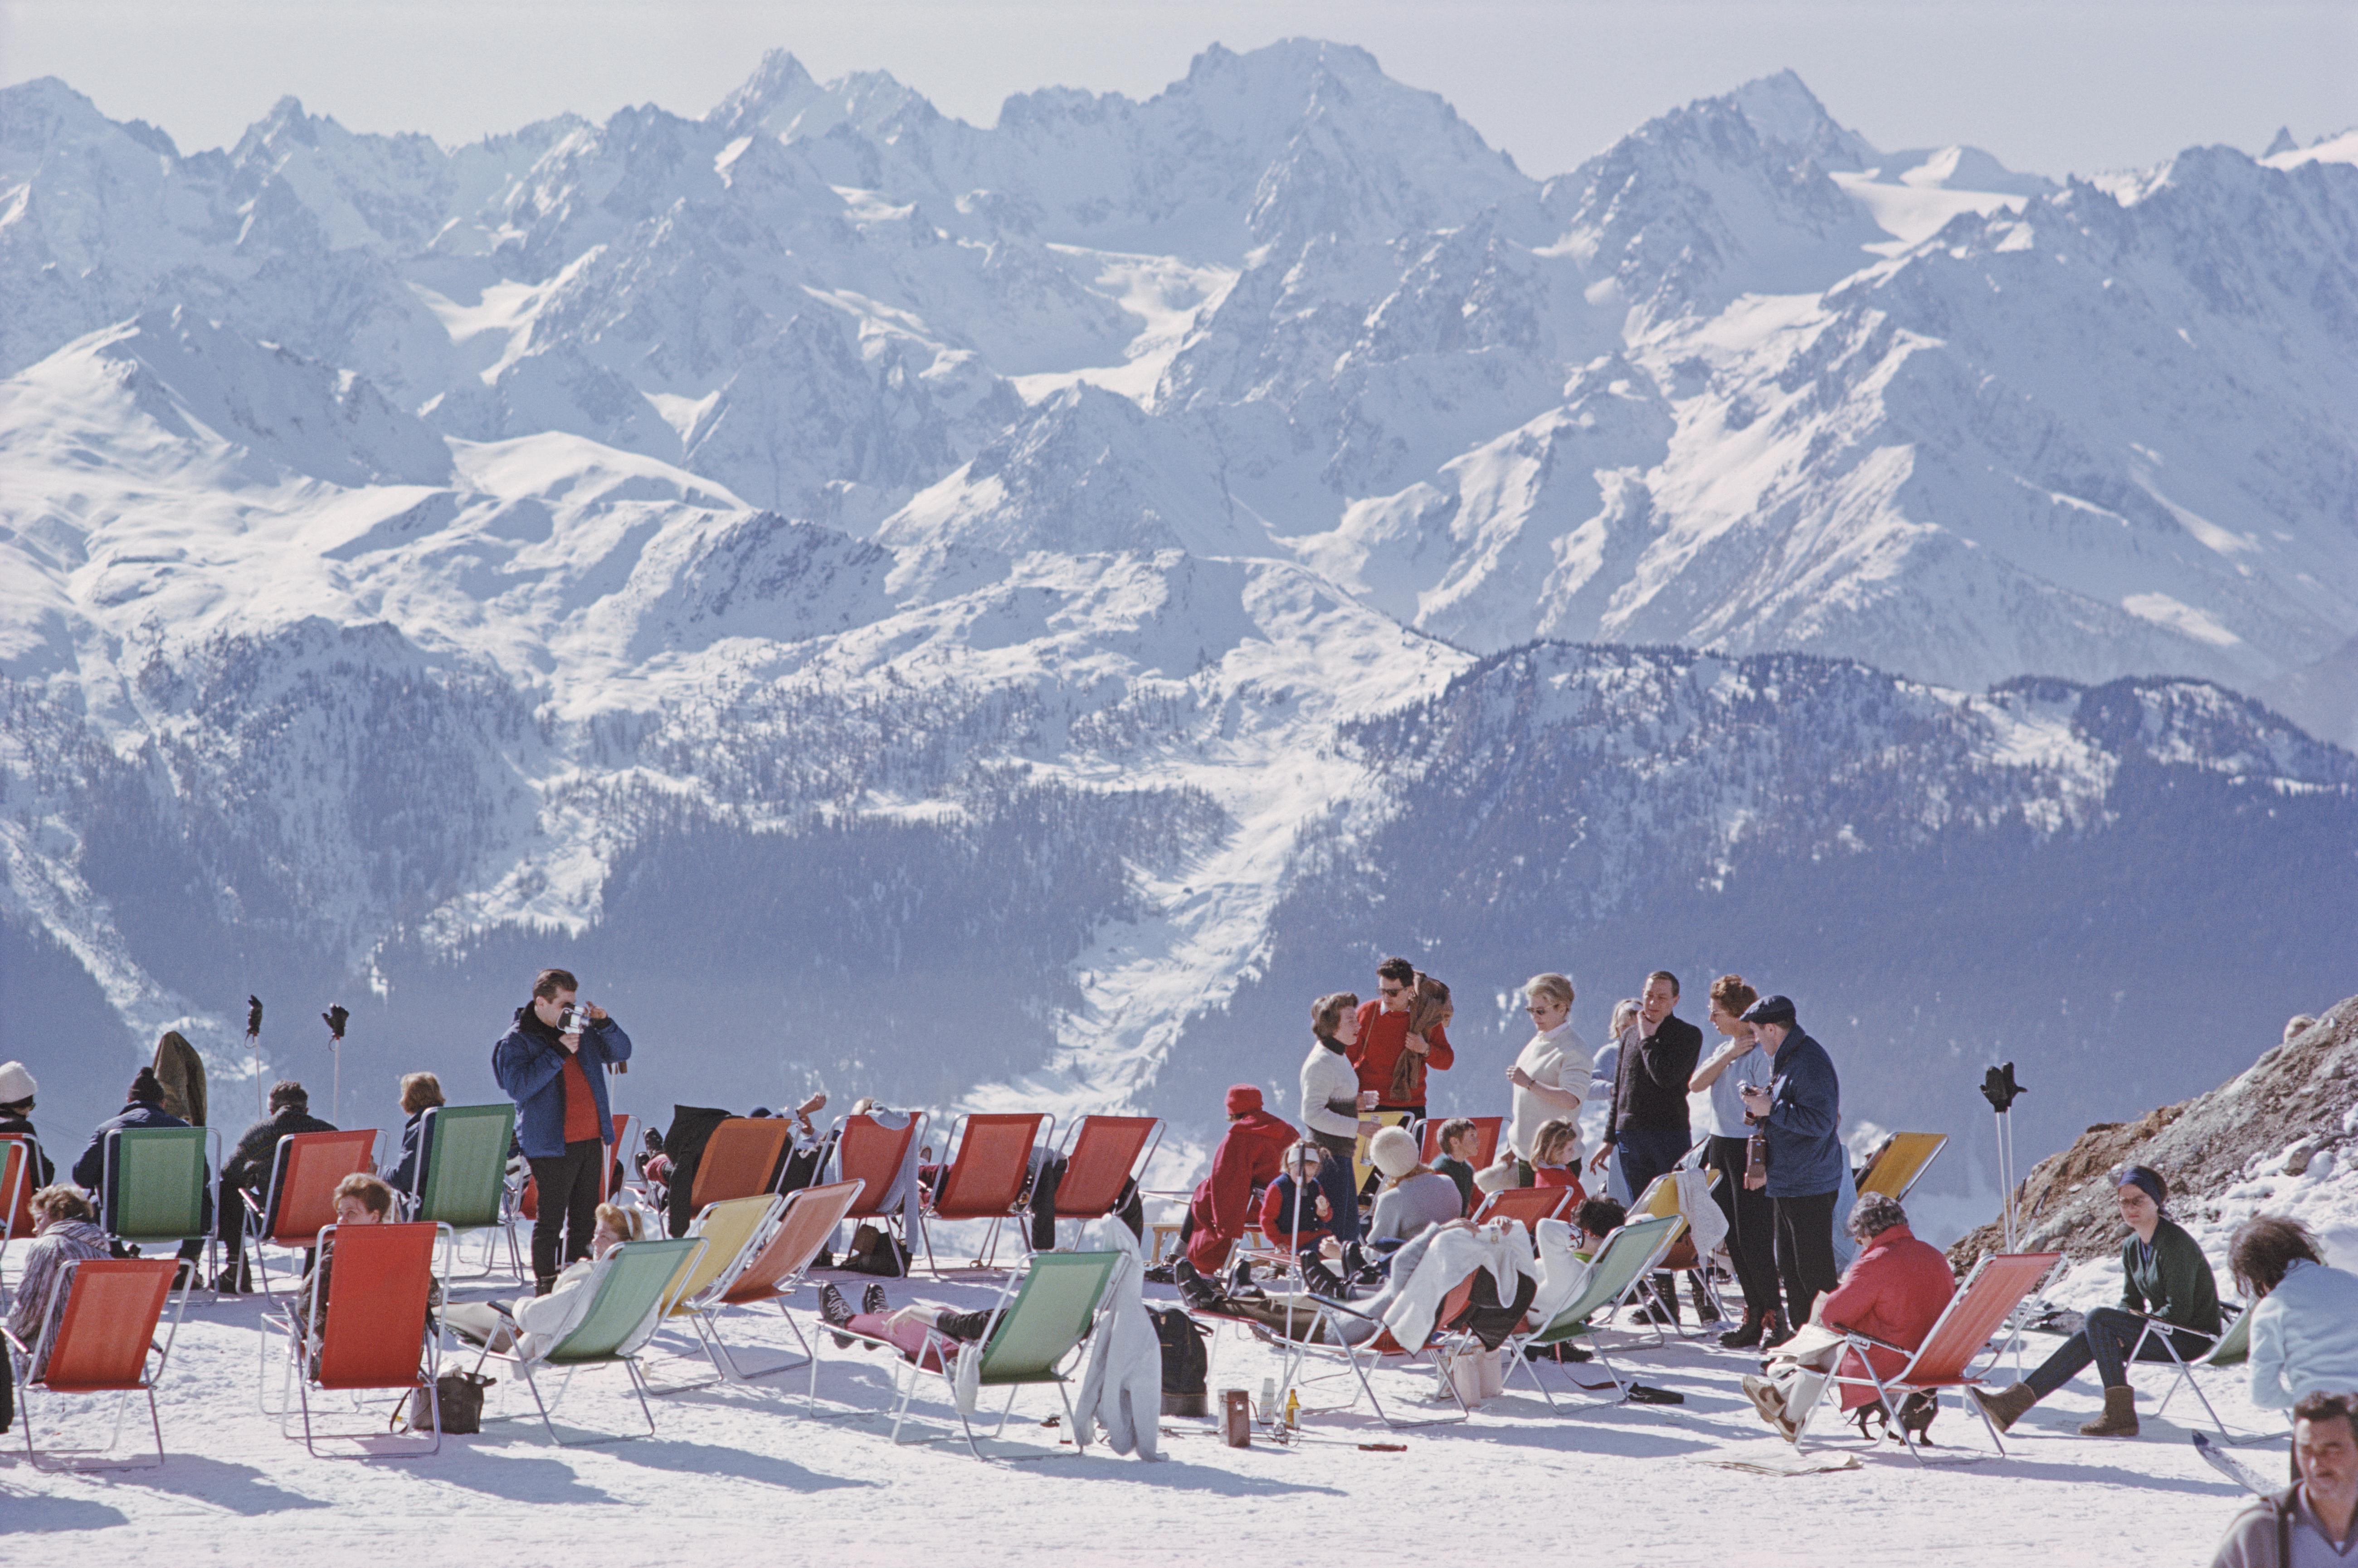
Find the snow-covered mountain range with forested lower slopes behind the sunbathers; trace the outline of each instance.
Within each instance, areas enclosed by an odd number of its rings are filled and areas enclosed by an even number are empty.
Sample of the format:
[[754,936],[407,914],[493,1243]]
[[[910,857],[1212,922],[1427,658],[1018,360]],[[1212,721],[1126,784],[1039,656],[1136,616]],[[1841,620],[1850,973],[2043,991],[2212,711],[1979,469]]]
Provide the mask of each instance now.
[[467,149],[0,90],[0,1054],[94,1115],[337,993],[472,1094],[571,960],[648,1113],[1193,1118],[1377,950],[1481,1040],[1679,955],[1882,1122],[2181,1094],[2146,981],[2358,957],[2353,158],[2056,184],[1787,73],[1533,179],[1323,42]]

